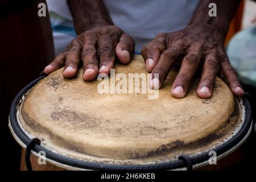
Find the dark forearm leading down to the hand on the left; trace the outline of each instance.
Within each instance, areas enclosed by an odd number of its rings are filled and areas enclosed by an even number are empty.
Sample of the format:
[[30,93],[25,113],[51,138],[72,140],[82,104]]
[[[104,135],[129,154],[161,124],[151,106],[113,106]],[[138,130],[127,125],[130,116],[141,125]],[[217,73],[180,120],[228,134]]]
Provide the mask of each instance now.
[[94,27],[113,25],[102,0],[68,0],[77,35]]

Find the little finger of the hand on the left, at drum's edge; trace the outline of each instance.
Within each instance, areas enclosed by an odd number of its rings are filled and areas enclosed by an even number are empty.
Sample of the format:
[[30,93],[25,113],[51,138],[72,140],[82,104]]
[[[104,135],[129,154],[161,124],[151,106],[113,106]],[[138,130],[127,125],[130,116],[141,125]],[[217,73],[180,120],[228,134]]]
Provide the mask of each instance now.
[[64,67],[64,65],[65,65],[65,52],[57,55],[55,59],[46,68],[44,68],[44,73],[48,75],[49,73],[52,73],[57,69]]

